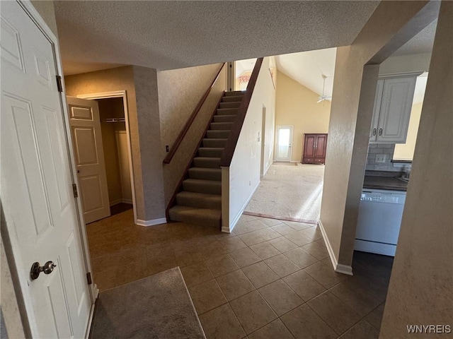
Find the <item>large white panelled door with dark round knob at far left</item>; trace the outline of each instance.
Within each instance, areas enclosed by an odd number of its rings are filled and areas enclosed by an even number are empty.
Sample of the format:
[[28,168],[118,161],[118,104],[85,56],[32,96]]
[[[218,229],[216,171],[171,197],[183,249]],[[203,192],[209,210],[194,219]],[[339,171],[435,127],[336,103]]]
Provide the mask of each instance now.
[[0,6],[1,203],[25,311],[33,338],[83,338],[92,302],[54,46],[16,1]]

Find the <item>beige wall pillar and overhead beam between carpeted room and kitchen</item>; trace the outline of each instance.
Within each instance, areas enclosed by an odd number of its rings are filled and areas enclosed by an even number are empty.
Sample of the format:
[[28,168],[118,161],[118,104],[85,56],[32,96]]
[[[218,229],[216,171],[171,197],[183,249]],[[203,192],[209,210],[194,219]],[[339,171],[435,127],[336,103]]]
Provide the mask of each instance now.
[[411,30],[421,30],[420,20],[412,21],[406,27],[409,29],[401,28],[426,4],[427,1],[382,1],[352,45],[337,49],[321,223],[333,262],[338,261],[340,270],[351,269],[379,73],[379,67],[373,66],[364,78],[364,65],[372,58],[379,64],[411,38]]

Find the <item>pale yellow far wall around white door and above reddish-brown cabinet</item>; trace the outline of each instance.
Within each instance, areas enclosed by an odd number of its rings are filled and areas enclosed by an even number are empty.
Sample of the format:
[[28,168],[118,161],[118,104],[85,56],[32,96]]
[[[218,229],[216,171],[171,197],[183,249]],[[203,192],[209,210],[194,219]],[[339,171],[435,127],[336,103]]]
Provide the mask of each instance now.
[[327,133],[331,102],[320,103],[319,95],[278,72],[275,97],[275,126],[294,126],[292,161],[302,160],[304,133]]

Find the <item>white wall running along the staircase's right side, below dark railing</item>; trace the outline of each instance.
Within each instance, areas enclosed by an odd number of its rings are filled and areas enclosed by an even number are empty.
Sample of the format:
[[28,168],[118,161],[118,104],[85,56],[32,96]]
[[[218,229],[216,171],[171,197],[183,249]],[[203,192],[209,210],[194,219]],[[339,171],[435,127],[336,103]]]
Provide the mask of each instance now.
[[265,171],[272,163],[275,89],[269,72],[269,61],[268,57],[263,60],[229,167],[229,194],[226,195],[229,199],[229,211],[227,220],[224,220],[222,225],[224,232],[231,232],[260,184],[261,138],[258,138],[258,135],[262,129],[263,107],[266,108]]

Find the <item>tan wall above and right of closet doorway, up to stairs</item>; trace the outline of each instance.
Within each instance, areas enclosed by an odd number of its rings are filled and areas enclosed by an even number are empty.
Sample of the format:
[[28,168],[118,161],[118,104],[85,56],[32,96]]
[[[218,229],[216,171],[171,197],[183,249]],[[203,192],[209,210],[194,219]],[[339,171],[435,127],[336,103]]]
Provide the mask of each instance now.
[[164,218],[161,136],[156,124],[159,121],[156,71],[124,66],[66,76],[64,82],[66,93],[71,96],[126,90],[137,218]]

